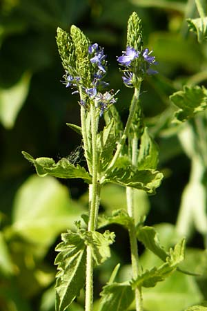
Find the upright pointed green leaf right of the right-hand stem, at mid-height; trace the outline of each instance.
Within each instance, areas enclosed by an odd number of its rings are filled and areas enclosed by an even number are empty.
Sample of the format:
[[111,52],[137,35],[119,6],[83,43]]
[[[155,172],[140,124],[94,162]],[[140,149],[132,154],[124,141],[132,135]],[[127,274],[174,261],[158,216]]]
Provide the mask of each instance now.
[[156,169],[158,163],[158,147],[148,133],[148,128],[145,127],[144,133],[141,135],[141,143],[138,156],[139,169]]

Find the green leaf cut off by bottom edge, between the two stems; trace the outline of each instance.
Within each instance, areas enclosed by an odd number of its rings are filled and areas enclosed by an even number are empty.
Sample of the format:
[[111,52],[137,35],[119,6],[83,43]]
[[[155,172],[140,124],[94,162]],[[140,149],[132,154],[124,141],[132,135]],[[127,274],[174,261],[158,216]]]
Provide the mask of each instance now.
[[135,294],[128,283],[112,283],[103,287],[99,311],[126,311]]

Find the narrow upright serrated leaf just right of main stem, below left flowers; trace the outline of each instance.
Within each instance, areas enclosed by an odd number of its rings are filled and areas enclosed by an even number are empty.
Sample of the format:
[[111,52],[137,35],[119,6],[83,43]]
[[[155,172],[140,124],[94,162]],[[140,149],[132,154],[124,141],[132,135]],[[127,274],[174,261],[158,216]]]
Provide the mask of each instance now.
[[99,150],[99,163],[101,171],[106,169],[108,163],[113,157],[117,137],[115,133],[115,120],[111,119],[110,122],[104,126],[103,131],[98,135],[97,147]]

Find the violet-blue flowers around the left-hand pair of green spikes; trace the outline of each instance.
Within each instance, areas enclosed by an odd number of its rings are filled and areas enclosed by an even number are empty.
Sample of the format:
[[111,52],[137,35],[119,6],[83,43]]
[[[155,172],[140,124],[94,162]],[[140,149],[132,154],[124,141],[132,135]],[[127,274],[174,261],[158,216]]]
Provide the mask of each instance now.
[[107,82],[103,81],[103,77],[106,75],[107,65],[106,55],[103,53],[103,48],[99,47],[97,43],[92,44],[88,47],[88,58],[92,65],[90,70],[92,81],[88,83],[89,87],[83,85],[81,77],[69,73],[66,73],[66,75],[63,76],[65,78],[63,83],[66,84],[67,88],[76,88],[76,91],[73,91],[72,94],[81,93],[81,100],[79,102],[81,106],[88,109],[90,101],[92,101],[95,103],[99,115],[102,116],[103,112],[117,101],[115,99],[117,93],[112,94],[112,91],[101,93],[101,91],[109,85]]

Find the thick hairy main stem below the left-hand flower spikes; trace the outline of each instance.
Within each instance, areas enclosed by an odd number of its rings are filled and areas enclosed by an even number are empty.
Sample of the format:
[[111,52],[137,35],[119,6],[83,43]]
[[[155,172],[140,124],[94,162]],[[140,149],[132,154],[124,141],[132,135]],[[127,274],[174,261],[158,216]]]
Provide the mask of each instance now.
[[[90,105],[90,122],[92,137],[92,185],[89,187],[89,221],[88,231],[95,231],[99,207],[98,156],[97,156],[97,117],[95,105]],[[90,246],[86,255],[86,311],[92,311],[93,304],[93,259]]]

